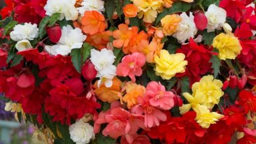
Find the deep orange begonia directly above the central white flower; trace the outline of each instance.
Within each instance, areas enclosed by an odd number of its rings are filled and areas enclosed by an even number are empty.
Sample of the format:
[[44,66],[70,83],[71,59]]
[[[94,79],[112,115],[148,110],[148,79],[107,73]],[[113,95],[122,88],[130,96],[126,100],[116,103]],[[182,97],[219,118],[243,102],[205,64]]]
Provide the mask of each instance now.
[[96,33],[95,35],[88,35],[85,42],[90,43],[90,45],[101,50],[102,48],[106,48],[110,41],[110,36],[112,36],[112,31],[103,31],[101,33]]

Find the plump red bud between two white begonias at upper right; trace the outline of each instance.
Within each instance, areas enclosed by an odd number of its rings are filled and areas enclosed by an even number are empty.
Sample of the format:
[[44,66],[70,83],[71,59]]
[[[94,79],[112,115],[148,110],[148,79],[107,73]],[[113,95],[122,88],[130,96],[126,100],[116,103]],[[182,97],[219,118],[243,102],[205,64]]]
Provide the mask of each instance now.
[[196,28],[201,31],[205,29],[208,24],[208,20],[202,11],[195,12],[194,22],[196,24]]

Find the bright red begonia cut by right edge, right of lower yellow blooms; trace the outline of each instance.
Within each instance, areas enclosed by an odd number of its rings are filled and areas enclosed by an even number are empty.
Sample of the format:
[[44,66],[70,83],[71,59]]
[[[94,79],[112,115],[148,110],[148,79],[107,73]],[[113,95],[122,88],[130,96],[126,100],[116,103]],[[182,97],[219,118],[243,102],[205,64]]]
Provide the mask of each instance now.
[[245,113],[249,111],[256,112],[256,96],[247,90],[242,90],[239,93],[239,105],[245,109]]

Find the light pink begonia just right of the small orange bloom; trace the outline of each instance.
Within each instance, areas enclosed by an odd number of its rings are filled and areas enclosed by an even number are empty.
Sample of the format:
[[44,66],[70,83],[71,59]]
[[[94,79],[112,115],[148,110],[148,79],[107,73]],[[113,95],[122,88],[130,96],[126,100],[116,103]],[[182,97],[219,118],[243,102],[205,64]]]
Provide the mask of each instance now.
[[150,105],[159,107],[163,110],[169,110],[174,106],[175,94],[165,91],[165,86],[160,82],[149,82],[146,86],[146,97],[150,99]]

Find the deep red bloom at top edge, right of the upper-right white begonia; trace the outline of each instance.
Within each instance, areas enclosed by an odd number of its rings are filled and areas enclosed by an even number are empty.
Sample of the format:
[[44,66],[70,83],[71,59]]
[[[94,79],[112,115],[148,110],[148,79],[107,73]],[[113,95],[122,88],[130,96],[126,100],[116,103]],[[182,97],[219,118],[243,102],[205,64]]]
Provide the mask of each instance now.
[[219,7],[226,10],[226,16],[234,19],[238,23],[245,10],[245,0],[222,0]]

